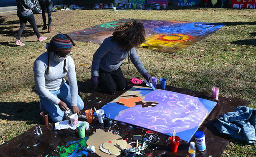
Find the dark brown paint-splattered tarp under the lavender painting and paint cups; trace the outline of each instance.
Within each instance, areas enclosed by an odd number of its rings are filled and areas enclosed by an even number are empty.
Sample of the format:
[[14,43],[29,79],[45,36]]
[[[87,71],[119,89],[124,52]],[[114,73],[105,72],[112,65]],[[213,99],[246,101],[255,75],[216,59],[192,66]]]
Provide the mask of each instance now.
[[[157,88],[160,88],[160,86],[158,85]],[[211,98],[211,94],[191,91],[190,89],[167,86],[166,90],[192,95],[194,97],[200,97],[202,99],[213,100]],[[123,92],[117,92],[115,95],[105,95],[95,92],[84,100],[84,110],[94,107],[100,109],[104,104],[119,97],[119,95],[121,95],[122,93]],[[218,104],[198,128],[198,131],[204,131],[205,133],[206,150],[204,152],[197,151],[197,157],[208,157],[209,155],[212,155],[213,157],[221,156],[224,148],[229,142],[229,137],[227,137],[226,135],[220,135],[219,131],[216,130],[216,128],[213,126],[214,120],[218,119],[219,115],[234,111],[237,106],[248,106],[248,104],[249,102],[243,99],[219,97]],[[25,133],[22,133],[18,137],[15,137],[14,139],[0,145],[0,156],[61,156],[61,153],[62,155],[64,153],[64,149],[59,152],[61,148],[65,148],[65,146],[67,146],[67,143],[70,141],[79,140],[78,135],[76,135],[74,130],[64,129],[56,131],[53,130],[53,124],[50,124],[48,126],[40,126],[42,128],[43,135],[36,135],[35,127],[33,127]],[[150,131],[145,128],[132,126],[114,120],[112,120],[111,122],[111,128],[104,128],[103,126],[98,125],[98,120],[97,118],[95,118],[93,120],[93,123],[90,124],[89,130],[86,131],[86,136],[88,137],[92,135],[93,131],[95,131],[96,128],[101,128],[105,131],[112,131],[115,134],[119,134],[122,139],[127,140],[128,143],[135,142],[132,140],[133,135],[142,135],[143,138],[147,138],[150,136],[151,141],[150,143],[146,144],[146,149],[141,152],[141,156],[144,155],[148,157],[186,157],[186,155],[188,154],[189,143],[180,141],[178,152],[172,153],[170,152],[169,136]],[[195,141],[194,137],[192,137],[191,141]],[[133,143],[132,146],[135,146],[135,143]],[[95,153],[89,153],[89,155],[87,156],[97,157],[98,155],[96,155]]]

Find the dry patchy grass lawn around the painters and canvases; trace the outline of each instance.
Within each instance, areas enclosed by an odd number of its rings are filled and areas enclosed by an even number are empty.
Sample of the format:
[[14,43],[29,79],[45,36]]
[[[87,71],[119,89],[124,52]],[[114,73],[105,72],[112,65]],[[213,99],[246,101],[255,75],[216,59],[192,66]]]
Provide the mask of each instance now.
[[[38,42],[30,24],[16,46],[19,29],[16,13],[0,15],[0,131],[5,141],[20,135],[36,124],[39,97],[35,93],[33,62],[46,51],[46,42],[58,33],[69,33],[120,18],[176,20],[191,22],[224,22],[226,26],[192,46],[174,54],[137,48],[150,75],[167,78],[167,84],[178,88],[211,93],[219,87],[221,97],[248,100],[256,109],[256,11],[255,9],[174,9],[145,10],[74,10],[52,13],[52,32],[42,31],[41,15],[34,15],[38,29],[48,39]],[[76,42],[71,51],[76,65],[78,90],[82,99],[92,93],[91,62],[99,44]],[[124,63],[128,63],[125,60]],[[126,74],[128,64],[122,69]],[[130,66],[127,78],[141,77]],[[0,141],[1,143],[1,141]],[[256,147],[232,139],[222,157],[253,157]]]

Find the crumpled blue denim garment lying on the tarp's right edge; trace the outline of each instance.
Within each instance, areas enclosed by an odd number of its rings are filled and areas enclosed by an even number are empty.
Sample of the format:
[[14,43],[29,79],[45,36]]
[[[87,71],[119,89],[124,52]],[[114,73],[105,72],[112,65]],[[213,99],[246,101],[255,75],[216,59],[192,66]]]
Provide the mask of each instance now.
[[249,144],[256,142],[256,110],[239,106],[234,112],[228,112],[219,117],[214,126],[220,133],[230,137],[247,141]]

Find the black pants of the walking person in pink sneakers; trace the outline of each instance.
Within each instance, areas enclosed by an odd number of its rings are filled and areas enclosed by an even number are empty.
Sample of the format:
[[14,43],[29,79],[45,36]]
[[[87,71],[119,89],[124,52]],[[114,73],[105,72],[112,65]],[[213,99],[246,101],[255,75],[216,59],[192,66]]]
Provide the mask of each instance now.
[[37,29],[37,24],[35,24],[35,18],[34,15],[30,15],[28,17],[22,17],[19,16],[20,18],[20,29],[18,31],[18,35],[17,35],[17,40],[20,40],[20,37],[22,35],[22,32],[24,31],[25,27],[26,27],[26,23],[27,21],[30,23],[30,25],[33,27],[33,30],[35,32],[35,34],[37,35],[37,38],[40,37],[39,31]]

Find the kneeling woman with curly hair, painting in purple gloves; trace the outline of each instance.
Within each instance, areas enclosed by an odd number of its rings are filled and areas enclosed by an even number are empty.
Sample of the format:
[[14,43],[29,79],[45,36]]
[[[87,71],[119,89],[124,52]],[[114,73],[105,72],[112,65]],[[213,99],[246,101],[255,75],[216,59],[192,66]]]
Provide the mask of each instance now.
[[135,50],[135,47],[144,41],[145,29],[141,22],[126,22],[124,25],[117,26],[113,35],[105,38],[93,55],[91,82],[94,87],[96,88],[99,84],[102,91],[107,94],[124,90],[127,82],[120,66],[127,57],[130,57],[139,73],[148,82],[152,82],[152,77]]

